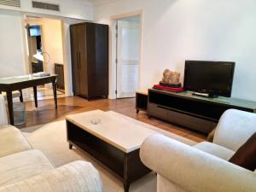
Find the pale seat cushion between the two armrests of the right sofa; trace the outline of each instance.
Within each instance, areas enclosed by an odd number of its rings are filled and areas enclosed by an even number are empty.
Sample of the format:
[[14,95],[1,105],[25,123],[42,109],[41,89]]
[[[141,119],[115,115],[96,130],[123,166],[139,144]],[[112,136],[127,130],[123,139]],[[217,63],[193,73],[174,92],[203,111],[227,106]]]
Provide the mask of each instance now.
[[217,156],[218,158],[221,158],[223,160],[230,160],[230,157],[235,154],[234,151],[231,151],[228,148],[224,148],[218,144],[209,142],[198,143],[194,145],[194,148],[200,149],[201,151],[207,152],[208,154]]

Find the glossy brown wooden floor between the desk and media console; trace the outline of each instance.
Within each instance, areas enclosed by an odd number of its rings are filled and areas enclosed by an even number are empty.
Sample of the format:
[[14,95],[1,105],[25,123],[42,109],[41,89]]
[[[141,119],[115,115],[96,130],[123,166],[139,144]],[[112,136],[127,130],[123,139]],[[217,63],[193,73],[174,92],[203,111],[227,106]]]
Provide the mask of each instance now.
[[34,107],[33,102],[26,102],[26,125],[21,125],[19,128],[43,125],[55,120],[65,119],[67,114],[81,113],[95,109],[101,109],[103,111],[113,110],[118,113],[123,113],[131,118],[157,126],[166,131],[171,131],[196,142],[201,142],[206,139],[206,136],[202,135],[200,132],[178,127],[160,119],[148,119],[147,114],[143,112],[137,114],[134,98],[118,100],[101,99],[89,102],[79,96],[69,96],[58,98],[58,109],[55,109],[52,99],[38,101],[38,108]]

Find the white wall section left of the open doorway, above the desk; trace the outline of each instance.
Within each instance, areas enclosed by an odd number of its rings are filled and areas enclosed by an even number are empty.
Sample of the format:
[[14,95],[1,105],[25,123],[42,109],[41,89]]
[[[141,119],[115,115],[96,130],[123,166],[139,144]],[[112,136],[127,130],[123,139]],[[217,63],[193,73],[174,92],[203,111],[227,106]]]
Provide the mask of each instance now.
[[20,13],[0,9],[0,78],[26,74]]

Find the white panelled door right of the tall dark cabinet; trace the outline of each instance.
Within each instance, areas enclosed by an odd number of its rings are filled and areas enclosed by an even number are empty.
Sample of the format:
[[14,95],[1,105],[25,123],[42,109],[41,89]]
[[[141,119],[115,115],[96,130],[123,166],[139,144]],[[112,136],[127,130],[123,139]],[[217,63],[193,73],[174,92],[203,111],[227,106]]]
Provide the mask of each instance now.
[[134,97],[138,87],[140,24],[118,20],[117,98]]

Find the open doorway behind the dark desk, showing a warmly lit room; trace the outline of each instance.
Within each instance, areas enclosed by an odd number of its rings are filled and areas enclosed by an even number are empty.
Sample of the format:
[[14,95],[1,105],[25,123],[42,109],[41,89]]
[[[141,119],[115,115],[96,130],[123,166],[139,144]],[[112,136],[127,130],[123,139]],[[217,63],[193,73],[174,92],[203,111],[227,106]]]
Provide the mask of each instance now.
[[[29,73],[57,74],[57,95],[65,96],[62,20],[26,16]],[[52,84],[38,86],[38,100],[53,97]]]

